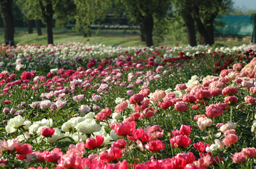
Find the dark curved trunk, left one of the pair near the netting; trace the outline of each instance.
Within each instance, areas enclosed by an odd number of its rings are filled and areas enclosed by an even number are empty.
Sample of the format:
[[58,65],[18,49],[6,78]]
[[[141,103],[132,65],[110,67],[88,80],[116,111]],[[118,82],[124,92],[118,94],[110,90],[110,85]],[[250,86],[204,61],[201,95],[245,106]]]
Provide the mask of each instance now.
[[187,28],[188,43],[190,46],[196,46],[197,45],[196,29],[195,29],[195,22],[193,20],[193,17],[191,16],[190,13],[187,13],[185,11],[182,17]]

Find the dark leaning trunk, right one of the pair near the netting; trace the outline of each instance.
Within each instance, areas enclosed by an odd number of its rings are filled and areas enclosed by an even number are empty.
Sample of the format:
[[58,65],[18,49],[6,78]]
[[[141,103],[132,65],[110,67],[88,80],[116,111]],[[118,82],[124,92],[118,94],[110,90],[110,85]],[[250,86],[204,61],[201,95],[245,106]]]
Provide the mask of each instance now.
[[212,45],[211,43],[211,39],[210,36],[203,24],[203,22],[200,19],[200,15],[199,15],[199,7],[198,6],[194,6],[193,5],[193,9],[194,9],[194,20],[196,22],[196,26],[197,26],[197,30],[200,33],[200,35],[203,37],[204,41],[206,44]]

